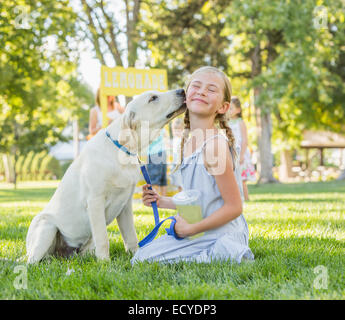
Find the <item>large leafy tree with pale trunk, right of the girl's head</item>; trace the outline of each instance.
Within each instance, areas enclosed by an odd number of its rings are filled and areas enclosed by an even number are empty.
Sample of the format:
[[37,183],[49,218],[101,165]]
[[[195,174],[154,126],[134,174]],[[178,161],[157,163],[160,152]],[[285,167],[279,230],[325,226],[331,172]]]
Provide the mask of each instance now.
[[[249,80],[246,88],[254,92],[261,182],[274,181],[273,132],[283,151],[297,146],[306,128],[325,127],[332,118],[339,124],[344,81],[326,65],[344,43],[340,8],[340,1],[313,0],[236,0],[229,6],[228,27],[237,38],[230,73]],[[325,23],[318,21],[320,10],[326,12]],[[334,108],[335,117],[329,112]]]

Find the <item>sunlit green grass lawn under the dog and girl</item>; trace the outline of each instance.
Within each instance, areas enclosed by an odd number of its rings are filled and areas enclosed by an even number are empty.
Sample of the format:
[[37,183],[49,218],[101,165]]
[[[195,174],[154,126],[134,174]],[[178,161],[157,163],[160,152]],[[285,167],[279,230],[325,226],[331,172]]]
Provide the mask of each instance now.
[[[0,299],[345,299],[344,182],[250,185],[244,214],[254,263],[132,266],[114,221],[110,262],[52,258],[28,266],[27,289],[16,289],[30,221],[55,187],[0,184]],[[134,212],[142,239],[153,227],[152,211],[135,204]],[[160,210],[162,217],[172,213]],[[320,265],[325,288],[314,286]]]

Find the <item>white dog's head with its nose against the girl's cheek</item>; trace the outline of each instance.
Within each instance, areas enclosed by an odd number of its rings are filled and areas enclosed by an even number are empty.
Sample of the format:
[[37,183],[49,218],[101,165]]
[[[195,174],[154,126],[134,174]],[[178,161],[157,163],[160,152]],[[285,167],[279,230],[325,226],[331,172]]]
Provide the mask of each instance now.
[[186,110],[185,100],[183,89],[148,91],[137,96],[122,116],[119,142],[128,143],[129,138],[135,137],[137,149],[148,146],[170,120]]

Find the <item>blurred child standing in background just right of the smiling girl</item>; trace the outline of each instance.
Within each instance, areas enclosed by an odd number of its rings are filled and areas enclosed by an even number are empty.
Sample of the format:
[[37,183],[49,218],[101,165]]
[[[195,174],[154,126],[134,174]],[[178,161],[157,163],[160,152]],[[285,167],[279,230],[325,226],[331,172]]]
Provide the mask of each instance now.
[[238,97],[232,97],[230,103],[229,126],[235,136],[235,144],[237,153],[240,155],[240,167],[242,177],[242,187],[244,193],[244,200],[249,200],[248,188],[246,181],[255,181],[255,168],[250,159],[250,152],[248,149],[248,134],[247,127],[242,120],[241,102]]

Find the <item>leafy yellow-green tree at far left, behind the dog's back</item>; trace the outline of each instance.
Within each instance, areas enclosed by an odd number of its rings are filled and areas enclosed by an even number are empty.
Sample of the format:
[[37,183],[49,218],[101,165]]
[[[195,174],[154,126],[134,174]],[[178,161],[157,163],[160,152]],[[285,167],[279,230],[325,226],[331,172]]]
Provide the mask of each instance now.
[[19,154],[63,140],[76,107],[76,15],[69,1],[19,4],[0,4],[0,152],[13,156],[12,168]]

